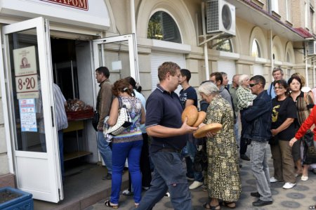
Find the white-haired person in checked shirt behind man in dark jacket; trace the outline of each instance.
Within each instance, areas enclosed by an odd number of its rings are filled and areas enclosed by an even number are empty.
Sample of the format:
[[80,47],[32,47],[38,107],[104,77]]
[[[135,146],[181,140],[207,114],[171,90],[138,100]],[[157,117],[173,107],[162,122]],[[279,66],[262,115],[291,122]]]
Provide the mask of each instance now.
[[246,156],[247,151],[247,143],[246,138],[243,138],[244,131],[246,131],[246,127],[248,126],[246,120],[244,120],[244,109],[252,105],[252,101],[256,98],[253,95],[249,88],[249,76],[246,74],[242,74],[239,76],[239,88],[236,91],[237,95],[237,107],[240,110],[240,119],[242,122],[242,136],[240,138],[240,158],[249,161],[249,157]]

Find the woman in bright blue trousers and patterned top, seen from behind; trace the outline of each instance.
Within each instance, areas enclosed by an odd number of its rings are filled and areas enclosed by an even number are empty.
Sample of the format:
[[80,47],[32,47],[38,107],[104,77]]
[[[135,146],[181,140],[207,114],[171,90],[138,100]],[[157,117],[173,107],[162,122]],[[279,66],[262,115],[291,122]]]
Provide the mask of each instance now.
[[131,116],[131,126],[122,133],[112,138],[112,189],[110,200],[105,201],[105,206],[114,209],[119,207],[119,191],[121,190],[121,176],[126,158],[129,161],[129,173],[134,190],[135,206],[138,207],[142,191],[142,176],[140,174],[140,152],[143,145],[143,136],[140,124],[145,123],[145,110],[138,98],[133,97],[129,82],[126,79],[115,81],[112,93],[117,98],[112,101],[110,117],[107,120],[109,126],[117,123],[119,116],[119,99]]

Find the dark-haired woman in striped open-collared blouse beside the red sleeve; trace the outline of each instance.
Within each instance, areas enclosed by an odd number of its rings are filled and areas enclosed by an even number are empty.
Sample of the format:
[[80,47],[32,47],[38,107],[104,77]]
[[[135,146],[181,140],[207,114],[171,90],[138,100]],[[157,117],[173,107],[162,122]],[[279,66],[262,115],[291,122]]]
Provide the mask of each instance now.
[[[287,84],[289,84],[289,87],[291,89],[290,98],[294,100],[297,107],[298,124],[300,126],[303,124],[305,119],[308,118],[308,115],[310,115],[310,112],[314,107],[312,97],[308,93],[303,93],[303,91],[301,91],[301,88],[303,86],[303,81],[301,79],[301,77],[292,76],[289,81],[287,81]],[[301,181],[307,181],[308,168],[310,167],[310,165],[304,164],[302,169],[301,160],[303,159],[303,152],[301,152],[301,150],[303,150],[303,143],[301,143],[298,138],[298,141],[294,143],[292,147],[292,155],[294,158],[294,162],[296,163],[296,174],[302,174]],[[315,164],[313,164],[313,166],[314,165]]]

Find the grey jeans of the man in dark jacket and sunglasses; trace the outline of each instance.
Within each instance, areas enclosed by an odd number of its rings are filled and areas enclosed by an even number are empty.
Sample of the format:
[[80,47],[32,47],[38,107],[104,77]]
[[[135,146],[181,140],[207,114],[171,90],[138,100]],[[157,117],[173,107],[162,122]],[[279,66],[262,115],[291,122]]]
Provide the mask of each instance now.
[[263,201],[272,201],[270,173],[267,162],[268,142],[252,140],[250,147],[251,170],[256,178],[260,199]]

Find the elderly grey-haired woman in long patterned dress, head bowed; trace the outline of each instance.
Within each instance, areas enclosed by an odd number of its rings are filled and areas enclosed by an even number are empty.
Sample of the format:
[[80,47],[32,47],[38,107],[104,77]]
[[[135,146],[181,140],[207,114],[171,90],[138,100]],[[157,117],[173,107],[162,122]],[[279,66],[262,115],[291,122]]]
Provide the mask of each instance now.
[[232,106],[218,95],[218,88],[212,82],[202,84],[198,91],[202,99],[209,103],[204,123],[223,125],[223,129],[218,133],[208,133],[206,141],[210,202],[204,204],[204,208],[220,209],[220,200],[223,200],[223,205],[235,208],[235,202],[239,199],[242,185],[239,177]]

